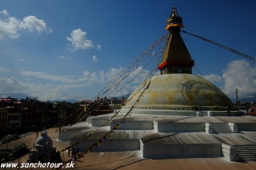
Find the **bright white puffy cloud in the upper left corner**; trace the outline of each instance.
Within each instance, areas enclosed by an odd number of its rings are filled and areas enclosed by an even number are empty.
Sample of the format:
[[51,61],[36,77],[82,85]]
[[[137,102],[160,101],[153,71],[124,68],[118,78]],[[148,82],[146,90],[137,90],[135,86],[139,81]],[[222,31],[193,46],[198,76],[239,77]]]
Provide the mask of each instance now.
[[37,30],[38,34],[43,31],[52,32],[52,30],[46,28],[46,22],[34,16],[27,16],[20,21],[17,18],[10,17],[7,10],[2,10],[1,14],[4,14],[5,18],[0,18],[0,39],[4,37],[18,38],[21,36],[18,34],[20,30],[28,30],[30,32]]

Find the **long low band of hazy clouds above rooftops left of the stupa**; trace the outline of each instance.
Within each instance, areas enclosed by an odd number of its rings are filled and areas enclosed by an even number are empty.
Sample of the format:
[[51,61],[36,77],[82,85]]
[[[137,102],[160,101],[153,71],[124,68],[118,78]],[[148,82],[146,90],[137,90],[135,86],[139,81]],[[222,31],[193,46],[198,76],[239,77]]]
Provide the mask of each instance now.
[[[82,100],[87,97],[85,93],[69,94],[69,90],[75,90],[83,87],[92,88],[95,85],[102,85],[103,87],[105,87],[110,80],[112,80],[114,77],[116,77],[116,75],[118,75],[118,73],[121,72],[122,69],[122,67],[120,67],[119,69],[111,68],[108,71],[99,71],[97,73],[85,71],[84,73],[82,73],[80,77],[70,75],[49,75],[47,73],[42,72],[22,71],[21,74],[22,76],[24,76],[24,81],[30,82],[26,83],[23,81],[19,81],[15,77],[0,77],[0,93],[26,93],[26,95],[38,97],[38,99],[41,101],[56,99],[67,100],[70,98]],[[137,86],[145,80],[145,78],[147,77],[147,73],[149,73],[149,71],[147,70],[142,70],[141,75],[135,78],[133,81],[131,81],[134,75],[137,74],[141,69],[142,67],[139,67],[138,69],[134,70],[134,73],[130,73],[127,76],[127,79],[123,81],[122,78],[126,77],[125,75],[120,77],[118,81],[116,81],[117,79],[115,79],[115,85],[118,84],[117,88],[113,86],[111,90],[107,90],[107,93],[105,93],[104,96],[109,96],[110,94],[110,97],[122,96],[126,93],[132,93],[134,89],[136,89]],[[0,70],[6,71],[6,69],[4,68],[0,68]],[[60,81],[62,83],[64,82],[65,84],[35,84],[32,83],[34,77],[50,81]],[[129,81],[131,81],[131,83]],[[127,82],[129,82],[130,84],[126,84]],[[98,92],[96,91],[95,95],[97,93]]]

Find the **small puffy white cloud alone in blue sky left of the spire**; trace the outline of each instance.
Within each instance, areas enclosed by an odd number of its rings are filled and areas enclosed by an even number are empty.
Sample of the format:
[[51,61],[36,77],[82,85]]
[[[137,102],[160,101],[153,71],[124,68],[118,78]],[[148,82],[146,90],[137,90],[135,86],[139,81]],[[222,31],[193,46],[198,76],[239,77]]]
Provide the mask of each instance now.
[[90,49],[94,47],[94,43],[86,38],[86,32],[83,32],[81,29],[73,30],[70,35],[71,37],[66,37],[66,39],[70,42],[69,45],[72,46],[73,50]]

